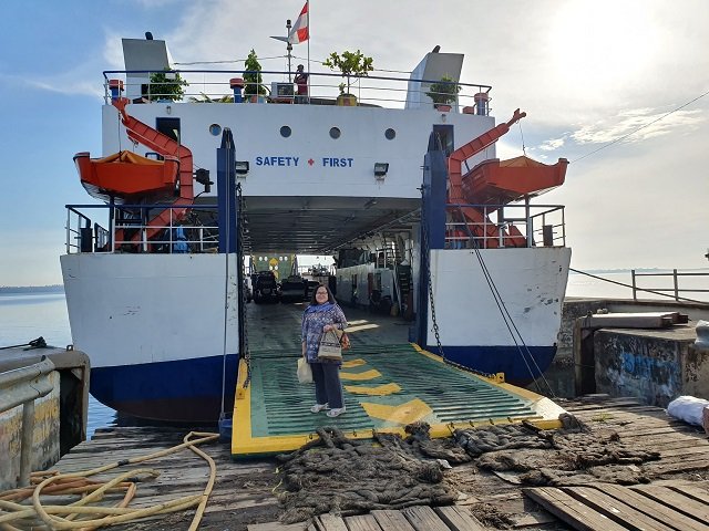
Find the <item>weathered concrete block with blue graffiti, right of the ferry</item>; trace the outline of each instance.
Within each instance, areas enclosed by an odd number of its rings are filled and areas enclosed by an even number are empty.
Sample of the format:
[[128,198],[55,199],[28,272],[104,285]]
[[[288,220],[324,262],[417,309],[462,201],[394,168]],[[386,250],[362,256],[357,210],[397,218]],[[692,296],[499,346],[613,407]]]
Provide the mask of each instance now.
[[695,339],[693,324],[596,331],[596,391],[659,407],[680,395],[709,399],[709,351],[696,348]]

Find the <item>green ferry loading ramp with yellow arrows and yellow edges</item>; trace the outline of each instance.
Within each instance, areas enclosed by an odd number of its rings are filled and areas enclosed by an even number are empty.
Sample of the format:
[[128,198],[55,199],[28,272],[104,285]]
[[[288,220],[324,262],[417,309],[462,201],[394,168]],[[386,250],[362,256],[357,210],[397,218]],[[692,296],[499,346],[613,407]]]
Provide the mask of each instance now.
[[[530,420],[561,426],[564,410],[541,395],[444,363],[411,344],[347,351],[340,378],[347,413],[330,418],[310,413],[314,384],[299,384],[299,353],[253,352],[239,366],[232,456],[245,458],[295,450],[335,426],[350,438],[399,433],[414,421],[431,425],[432,437],[456,428]],[[247,372],[250,378],[247,382]]]

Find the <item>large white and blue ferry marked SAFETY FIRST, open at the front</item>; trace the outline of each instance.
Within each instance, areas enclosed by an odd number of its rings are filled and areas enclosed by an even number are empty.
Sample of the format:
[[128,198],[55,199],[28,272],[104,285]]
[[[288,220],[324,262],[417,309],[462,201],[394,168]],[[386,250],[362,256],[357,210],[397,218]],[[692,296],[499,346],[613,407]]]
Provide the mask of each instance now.
[[[298,317],[278,329],[276,306],[259,305],[268,324],[249,321],[251,253],[336,257],[346,311],[395,320],[404,342],[452,365],[518,384],[548,367],[571,249],[564,207],[537,197],[563,184],[566,160],[496,158],[524,113],[496,125],[492,87],[460,80],[462,54],[361,77],[351,105],[331,72],[310,72],[296,102],[291,73],[261,71],[270,95],[249,98],[243,71],[171,70],[164,41],[124,39],[123,51],[126,70],[103,73],[103,153],[74,157],[100,200],[66,207],[61,257],[100,402],[215,421],[255,382],[257,333],[292,340],[269,355],[295,360]],[[189,80],[187,94],[162,97],[154,73]],[[448,106],[430,97],[441,79],[460,87]]]

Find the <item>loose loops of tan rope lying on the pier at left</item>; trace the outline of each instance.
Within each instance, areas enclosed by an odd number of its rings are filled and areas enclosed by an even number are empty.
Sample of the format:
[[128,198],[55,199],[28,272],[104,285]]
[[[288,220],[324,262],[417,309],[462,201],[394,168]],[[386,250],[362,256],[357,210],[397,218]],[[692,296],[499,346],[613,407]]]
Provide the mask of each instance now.
[[[191,440],[192,437],[199,438]],[[124,459],[92,470],[71,473],[33,472],[32,481],[40,481],[35,487],[14,489],[0,493],[0,529],[3,531],[38,529],[39,523],[41,525],[40,529],[45,529],[44,525],[47,525],[49,529],[58,530],[92,530],[104,525],[130,522],[140,518],[177,512],[197,506],[195,516],[189,525],[189,531],[194,531],[199,527],[199,522],[202,521],[204,510],[216,479],[216,465],[214,459],[199,448],[196,448],[196,446],[214,441],[218,437],[218,434],[191,431],[184,437],[182,445],[148,454],[146,456]],[[169,454],[175,454],[184,448],[189,448],[189,450],[205,459],[209,465],[209,479],[202,494],[186,496],[143,509],[131,509],[127,504],[135,497],[136,487],[134,481],[140,481],[141,479],[150,477],[157,477],[160,476],[158,471],[150,468],[137,468],[125,471],[107,482],[85,479],[90,476],[102,473],[117,467],[136,465]],[[125,496],[115,507],[89,506],[91,502],[100,501],[106,492],[115,492],[117,490],[125,490]],[[82,498],[68,506],[44,506],[40,499],[41,494],[81,494]],[[18,501],[27,500],[30,497],[32,500],[31,506],[18,503]],[[13,522],[17,525],[29,524],[30,528],[18,528],[10,522]],[[44,525],[42,525],[42,522]]]

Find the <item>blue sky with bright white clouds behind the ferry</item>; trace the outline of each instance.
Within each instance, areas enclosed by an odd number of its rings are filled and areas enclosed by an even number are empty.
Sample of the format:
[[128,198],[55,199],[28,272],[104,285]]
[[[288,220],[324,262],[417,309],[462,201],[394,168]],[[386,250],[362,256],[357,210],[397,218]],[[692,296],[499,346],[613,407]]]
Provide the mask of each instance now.
[[[72,157],[101,153],[102,72],[124,69],[121,38],[151,31],[175,63],[253,48],[284,70],[269,35],[302,4],[4,0],[0,285],[61,283],[64,206],[92,202]],[[374,69],[411,71],[436,44],[464,53],[461,80],[492,85],[497,122],[527,113],[499,157],[571,160],[541,200],[566,206],[572,268],[685,270],[709,266],[707,28],[707,0],[312,0],[310,58],[359,49]]]

